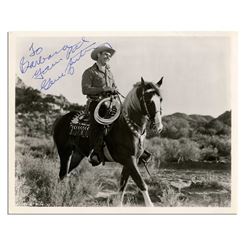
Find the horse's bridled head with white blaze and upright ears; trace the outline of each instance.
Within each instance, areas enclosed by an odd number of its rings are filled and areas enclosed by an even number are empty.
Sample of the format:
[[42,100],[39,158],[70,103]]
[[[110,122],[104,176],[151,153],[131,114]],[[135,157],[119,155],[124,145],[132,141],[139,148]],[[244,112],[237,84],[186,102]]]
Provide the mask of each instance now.
[[145,82],[141,78],[141,96],[140,104],[142,111],[151,121],[151,127],[156,129],[160,133],[163,129],[161,115],[162,115],[162,95],[160,87],[163,77],[156,84],[152,82]]

